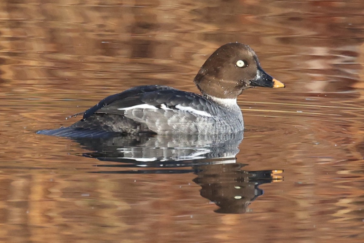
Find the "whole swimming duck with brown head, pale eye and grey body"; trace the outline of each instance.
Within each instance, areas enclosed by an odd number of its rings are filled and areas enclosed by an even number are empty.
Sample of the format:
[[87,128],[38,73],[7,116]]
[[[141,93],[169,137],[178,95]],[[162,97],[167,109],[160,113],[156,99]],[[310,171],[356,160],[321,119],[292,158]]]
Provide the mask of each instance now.
[[[244,130],[237,97],[251,87],[285,87],[261,68],[255,52],[241,43],[218,48],[202,65],[194,82],[202,95],[168,86],[147,85],[110,95],[75,115],[75,124],[39,134],[62,137],[124,134],[217,134]],[[74,115],[74,116],[75,116]]]

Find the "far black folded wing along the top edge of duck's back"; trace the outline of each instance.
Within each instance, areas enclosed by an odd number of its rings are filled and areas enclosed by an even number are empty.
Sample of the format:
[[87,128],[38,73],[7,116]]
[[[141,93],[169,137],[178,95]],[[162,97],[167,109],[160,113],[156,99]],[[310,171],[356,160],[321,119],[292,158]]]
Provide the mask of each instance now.
[[160,85],[146,85],[146,86],[137,86],[130,89],[127,89],[119,94],[110,95],[106,98],[104,98],[102,101],[100,101],[97,105],[91,107],[90,109],[86,110],[83,114],[83,119],[85,120],[88,117],[90,117],[94,113],[99,113],[100,109],[102,109],[105,106],[108,106],[110,104],[113,104],[115,102],[123,101],[124,99],[127,99],[129,97],[140,95],[143,93],[149,93],[149,92],[155,92],[155,91],[163,91],[163,90],[175,90],[172,87],[169,86],[160,86]]

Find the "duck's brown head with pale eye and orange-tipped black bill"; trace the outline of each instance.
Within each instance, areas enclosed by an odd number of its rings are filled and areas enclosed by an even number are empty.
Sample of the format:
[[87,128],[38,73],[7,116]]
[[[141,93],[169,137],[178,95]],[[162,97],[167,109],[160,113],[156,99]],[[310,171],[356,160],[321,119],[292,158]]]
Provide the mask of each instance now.
[[218,48],[202,65],[194,79],[203,95],[236,98],[251,87],[285,87],[260,66],[255,52],[241,43]]

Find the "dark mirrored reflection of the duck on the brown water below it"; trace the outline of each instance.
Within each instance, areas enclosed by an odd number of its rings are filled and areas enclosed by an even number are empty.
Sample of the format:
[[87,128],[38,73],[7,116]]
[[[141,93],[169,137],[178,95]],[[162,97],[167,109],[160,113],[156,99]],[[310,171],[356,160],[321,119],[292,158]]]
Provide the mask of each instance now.
[[[95,173],[195,173],[201,196],[220,208],[218,213],[244,213],[263,190],[258,186],[283,177],[280,170],[244,171],[236,162],[243,133],[215,135],[128,135],[73,138],[94,152],[82,156],[118,163],[98,165],[120,168]],[[121,169],[123,168],[123,169]]]

